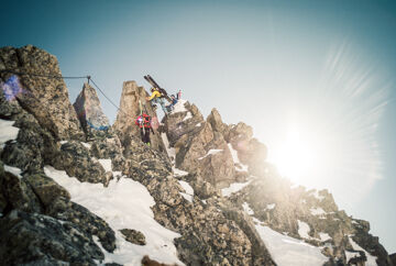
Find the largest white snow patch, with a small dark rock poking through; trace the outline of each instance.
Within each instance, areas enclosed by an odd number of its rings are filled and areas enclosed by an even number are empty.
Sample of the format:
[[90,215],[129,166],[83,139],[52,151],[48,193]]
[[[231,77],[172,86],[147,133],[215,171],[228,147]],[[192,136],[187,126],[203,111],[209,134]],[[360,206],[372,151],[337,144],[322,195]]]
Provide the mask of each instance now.
[[[119,181],[111,180],[108,188],[105,188],[101,184],[80,182],[51,166],[45,166],[44,171],[70,192],[74,202],[101,217],[114,230],[117,248],[112,254],[103,251],[103,264],[141,265],[143,256],[150,255],[152,259],[161,263],[184,265],[177,258],[173,243],[174,239],[180,235],[154,220],[151,207],[155,201],[142,184],[121,178]],[[139,230],[145,235],[146,245],[127,242],[119,232],[121,229]]]

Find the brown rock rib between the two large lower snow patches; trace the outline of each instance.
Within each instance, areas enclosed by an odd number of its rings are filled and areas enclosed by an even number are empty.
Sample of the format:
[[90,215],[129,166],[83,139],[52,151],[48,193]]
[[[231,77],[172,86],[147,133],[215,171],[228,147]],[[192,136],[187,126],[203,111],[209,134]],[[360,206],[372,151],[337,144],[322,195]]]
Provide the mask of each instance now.
[[[179,232],[175,244],[183,262],[188,265],[260,265],[252,257],[252,244],[238,224],[218,210],[216,201],[205,204],[198,198],[187,201],[170,164],[145,145],[131,154],[129,177],[147,187],[156,204],[155,220]],[[258,262],[258,258],[256,258]],[[261,257],[261,261],[271,257]]]

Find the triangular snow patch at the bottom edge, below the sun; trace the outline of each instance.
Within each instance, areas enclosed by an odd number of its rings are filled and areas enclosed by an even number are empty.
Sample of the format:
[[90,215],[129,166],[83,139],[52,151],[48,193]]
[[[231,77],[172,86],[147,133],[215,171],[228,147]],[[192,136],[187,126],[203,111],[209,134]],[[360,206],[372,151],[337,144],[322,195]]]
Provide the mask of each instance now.
[[253,220],[257,223],[255,228],[278,266],[317,266],[328,261],[319,247],[263,226],[255,218]]

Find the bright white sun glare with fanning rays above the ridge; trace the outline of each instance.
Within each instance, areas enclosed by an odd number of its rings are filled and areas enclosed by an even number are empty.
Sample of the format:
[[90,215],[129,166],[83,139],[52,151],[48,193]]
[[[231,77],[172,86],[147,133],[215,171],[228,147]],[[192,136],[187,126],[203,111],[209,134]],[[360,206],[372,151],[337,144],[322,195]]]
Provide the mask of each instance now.
[[376,66],[351,44],[329,53],[318,86],[305,106],[290,107],[289,129],[272,151],[280,175],[329,188],[349,207],[382,178],[377,130],[392,84]]

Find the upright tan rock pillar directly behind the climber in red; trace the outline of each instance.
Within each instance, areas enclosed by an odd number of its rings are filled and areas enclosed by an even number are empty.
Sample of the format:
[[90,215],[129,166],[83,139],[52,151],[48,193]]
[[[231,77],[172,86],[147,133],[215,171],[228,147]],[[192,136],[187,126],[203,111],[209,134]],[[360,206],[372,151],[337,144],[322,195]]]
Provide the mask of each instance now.
[[147,92],[143,87],[139,87],[135,81],[125,81],[122,85],[122,95],[120,99],[120,109],[117,114],[117,120],[113,124],[113,129],[117,132],[125,153],[130,151],[132,136],[141,138],[140,129],[135,125],[135,119],[140,115],[140,102],[144,112],[147,112],[153,119],[152,126],[154,134],[150,134],[151,147],[160,152],[165,152],[164,144],[162,142],[160,132],[157,131],[160,123],[157,115],[153,110],[152,106],[146,102]]

